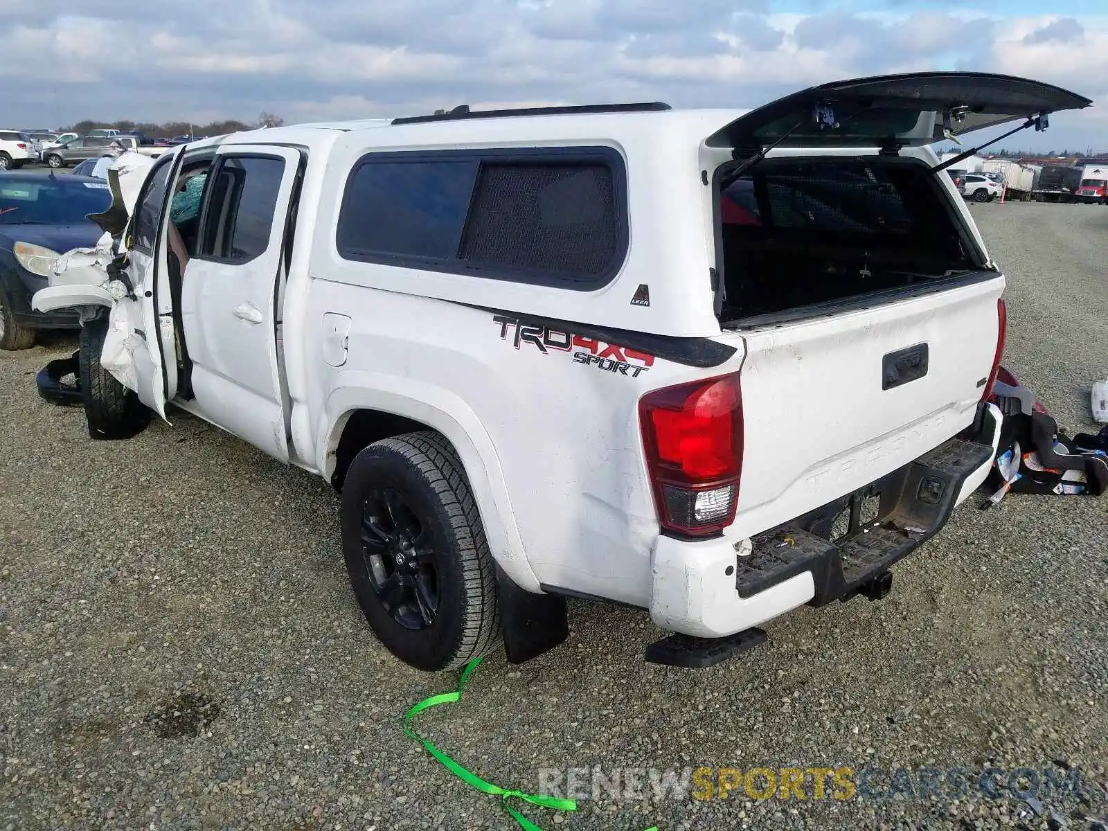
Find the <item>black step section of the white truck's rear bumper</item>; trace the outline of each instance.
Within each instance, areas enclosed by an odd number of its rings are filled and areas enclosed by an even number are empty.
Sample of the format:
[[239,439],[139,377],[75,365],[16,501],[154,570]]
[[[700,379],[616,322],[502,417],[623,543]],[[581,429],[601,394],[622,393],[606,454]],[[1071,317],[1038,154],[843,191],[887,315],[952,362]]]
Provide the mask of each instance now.
[[[739,596],[811,572],[810,605],[853,597],[946,524],[963,482],[992,455],[991,444],[951,439],[873,484],[755,537],[753,552],[737,558]],[[874,512],[869,519],[866,505]]]

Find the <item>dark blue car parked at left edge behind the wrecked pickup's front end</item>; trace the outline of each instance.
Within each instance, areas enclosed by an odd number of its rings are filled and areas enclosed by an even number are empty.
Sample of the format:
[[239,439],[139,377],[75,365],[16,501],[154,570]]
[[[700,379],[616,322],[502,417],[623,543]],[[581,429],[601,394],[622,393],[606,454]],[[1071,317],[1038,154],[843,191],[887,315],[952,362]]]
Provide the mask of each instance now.
[[80,328],[75,311],[32,311],[31,297],[59,255],[96,244],[103,232],[88,215],[111,203],[102,178],[0,173],[0,349],[33,346],[39,329]]

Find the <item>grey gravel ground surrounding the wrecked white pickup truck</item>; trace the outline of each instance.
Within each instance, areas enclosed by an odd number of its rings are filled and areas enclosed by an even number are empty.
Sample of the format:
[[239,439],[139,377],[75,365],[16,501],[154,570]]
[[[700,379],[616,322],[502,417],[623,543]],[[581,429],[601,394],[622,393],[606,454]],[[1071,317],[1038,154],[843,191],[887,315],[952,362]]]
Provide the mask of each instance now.
[[[1009,277],[1006,363],[1068,430],[1108,376],[1108,209],[974,207]],[[328,486],[176,414],[92,442],[33,389],[55,338],[0,353],[0,829],[511,829],[404,738],[443,691],[377,644],[347,587]],[[545,828],[1095,829],[1108,814],[1108,499],[963,505],[893,594],[802,608],[704,671],[646,665],[645,615],[571,606],[573,634],[493,655],[421,716],[463,765],[1077,768],[1084,801],[978,796],[638,800]],[[915,776],[915,773],[913,773]],[[1003,777],[1002,777],[1003,779]],[[880,782],[882,780],[876,779]],[[888,781],[882,784],[885,788]],[[829,784],[830,791],[830,784]],[[1054,814],[1051,815],[1051,811]],[[1027,814],[1023,817],[1023,814]]]

